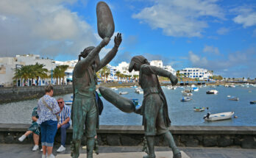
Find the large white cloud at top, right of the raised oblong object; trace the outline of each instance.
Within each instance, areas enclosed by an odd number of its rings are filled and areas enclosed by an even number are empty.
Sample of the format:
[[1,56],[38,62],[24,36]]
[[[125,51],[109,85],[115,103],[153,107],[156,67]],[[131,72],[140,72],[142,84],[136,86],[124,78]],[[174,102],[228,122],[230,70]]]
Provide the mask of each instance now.
[[200,37],[207,27],[203,17],[224,19],[216,0],[157,0],[152,7],[132,15],[152,29],[163,29],[165,35]]

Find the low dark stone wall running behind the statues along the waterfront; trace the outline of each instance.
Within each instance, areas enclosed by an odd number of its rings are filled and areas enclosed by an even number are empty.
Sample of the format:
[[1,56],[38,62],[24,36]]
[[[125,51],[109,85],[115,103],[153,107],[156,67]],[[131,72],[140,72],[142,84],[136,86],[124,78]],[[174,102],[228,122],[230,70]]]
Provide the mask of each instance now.
[[[29,124],[0,123],[0,143],[20,143]],[[256,126],[171,126],[177,146],[256,148]],[[143,126],[100,126],[97,131],[100,146],[143,146]],[[72,129],[68,129],[66,144],[72,140]],[[82,146],[85,146],[85,137]],[[32,137],[23,143],[32,143]],[[60,143],[60,133],[55,137]],[[155,146],[167,146],[163,137],[155,138]]]

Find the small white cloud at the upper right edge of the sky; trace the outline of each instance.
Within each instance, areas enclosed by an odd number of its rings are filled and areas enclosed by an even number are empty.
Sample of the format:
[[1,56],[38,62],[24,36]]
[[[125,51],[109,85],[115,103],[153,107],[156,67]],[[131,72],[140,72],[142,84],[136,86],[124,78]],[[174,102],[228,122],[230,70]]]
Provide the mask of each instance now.
[[243,28],[256,25],[256,10],[253,10],[252,7],[243,6],[231,11],[238,14],[233,18],[233,21],[237,24],[242,24]]

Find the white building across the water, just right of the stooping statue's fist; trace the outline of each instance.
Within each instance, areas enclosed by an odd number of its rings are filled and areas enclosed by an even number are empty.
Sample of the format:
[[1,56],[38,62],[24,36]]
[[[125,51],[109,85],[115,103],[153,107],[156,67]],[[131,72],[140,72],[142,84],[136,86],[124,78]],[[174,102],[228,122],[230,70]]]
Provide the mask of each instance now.
[[205,68],[185,68],[179,71],[179,73],[188,78],[199,80],[207,80],[210,76],[213,76],[213,73]]

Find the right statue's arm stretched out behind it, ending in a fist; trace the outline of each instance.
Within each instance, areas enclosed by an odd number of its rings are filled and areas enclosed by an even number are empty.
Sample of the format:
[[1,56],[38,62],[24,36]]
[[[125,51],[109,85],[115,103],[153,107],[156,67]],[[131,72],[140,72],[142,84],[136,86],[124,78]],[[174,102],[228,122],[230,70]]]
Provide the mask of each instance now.
[[172,85],[176,85],[178,79],[171,72],[164,70],[163,68],[158,68],[152,65],[141,65],[141,71],[146,74],[156,74],[158,76],[168,77],[171,80]]

